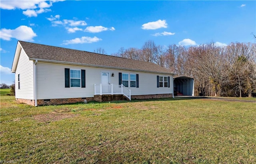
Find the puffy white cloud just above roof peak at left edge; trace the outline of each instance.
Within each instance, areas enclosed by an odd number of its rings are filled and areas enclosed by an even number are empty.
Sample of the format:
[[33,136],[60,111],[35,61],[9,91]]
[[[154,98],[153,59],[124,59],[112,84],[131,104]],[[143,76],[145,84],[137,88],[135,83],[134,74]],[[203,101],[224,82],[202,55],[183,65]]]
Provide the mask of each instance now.
[[23,41],[34,41],[34,37],[36,37],[36,33],[34,33],[32,28],[28,26],[19,26],[14,30],[5,28],[0,30],[0,38],[3,40],[11,40],[11,38],[15,38]]

